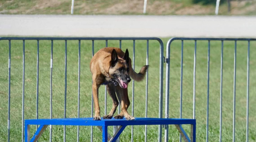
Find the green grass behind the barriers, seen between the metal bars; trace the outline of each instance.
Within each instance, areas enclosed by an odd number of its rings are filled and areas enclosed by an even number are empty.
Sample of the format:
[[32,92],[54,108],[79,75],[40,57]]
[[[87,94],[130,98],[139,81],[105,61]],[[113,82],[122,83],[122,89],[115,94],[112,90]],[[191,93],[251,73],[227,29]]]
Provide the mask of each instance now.
[[[163,38],[166,45],[168,38]],[[149,42],[149,94],[148,117],[158,117],[159,95],[159,44]],[[254,87],[256,81],[255,61],[256,43],[250,48],[250,101],[249,101],[249,141],[255,141],[256,128],[254,108],[256,107]],[[95,41],[95,52],[105,46],[105,41]],[[109,41],[109,47],[119,46],[119,41]],[[170,118],[179,118],[180,102],[180,41],[171,45],[170,65]],[[36,118],[36,41],[25,41],[25,119]],[[89,62],[92,57],[92,42],[81,41],[81,102],[80,117],[91,116],[91,73]],[[130,51],[132,41],[123,41],[122,49]],[[165,47],[164,47],[165,48]],[[50,117],[50,41],[40,41],[39,55],[39,118]],[[64,41],[54,41],[53,46],[53,118],[64,116]],[[0,41],[0,141],[7,141],[8,118],[8,41]],[[164,49],[166,51],[166,49]],[[210,105],[209,105],[209,141],[219,140],[220,113],[220,55],[221,42],[211,42],[210,53]],[[193,116],[193,53],[194,43],[184,41],[183,59],[183,118]],[[77,67],[78,41],[67,41],[67,109],[66,117],[77,117]],[[165,55],[165,53],[164,53]],[[136,41],[135,71],[146,64],[146,42]],[[236,71],[236,141],[245,141],[246,137],[246,62],[247,42],[237,42]],[[233,64],[234,42],[224,42],[223,58],[223,126],[222,141],[232,140],[233,115]],[[164,80],[165,83],[165,66]],[[164,85],[165,86],[165,85]],[[163,87],[165,89],[165,87]],[[129,87],[131,100],[131,84]],[[134,116],[145,117],[145,81],[135,82]],[[165,92],[165,91],[163,91]],[[104,115],[104,86],[100,87],[99,103],[101,116]],[[207,99],[207,42],[198,42],[196,60],[196,140],[205,141],[206,137],[206,99]],[[165,96],[165,94],[163,94]],[[164,100],[165,98],[163,98]],[[107,111],[111,109],[111,99],[107,97]],[[164,104],[164,103],[163,103]],[[22,41],[11,42],[11,130],[10,140],[21,141],[22,120]],[[164,110],[164,109],[163,109]],[[131,114],[131,107],[128,112]],[[116,113],[117,114],[117,113]],[[164,113],[163,113],[164,114]],[[175,127],[169,127],[169,141],[178,142],[179,133]],[[53,126],[53,141],[63,140],[63,126]],[[76,141],[74,126],[66,127],[66,140]],[[184,126],[190,132],[190,126]],[[31,127],[35,131],[35,126]],[[127,127],[120,141],[131,139],[131,127]],[[134,126],[134,141],[144,141],[144,126]],[[112,133],[112,129],[109,129]],[[148,126],[148,141],[157,141],[158,126]],[[94,141],[101,141],[101,133],[94,128]],[[90,140],[90,127],[80,127],[80,141]],[[39,141],[49,141],[49,128]]]

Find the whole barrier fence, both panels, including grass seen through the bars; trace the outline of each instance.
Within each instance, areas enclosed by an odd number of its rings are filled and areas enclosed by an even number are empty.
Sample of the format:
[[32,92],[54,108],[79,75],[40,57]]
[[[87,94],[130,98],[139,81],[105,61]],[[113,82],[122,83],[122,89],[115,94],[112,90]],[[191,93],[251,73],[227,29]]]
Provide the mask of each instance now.
[[[165,117],[195,118],[197,141],[255,141],[255,40],[170,39]],[[128,48],[137,72],[150,65],[145,81],[133,82],[128,89],[132,101],[128,112],[135,117],[162,117],[163,43],[159,38],[1,37],[0,141],[22,141],[24,119],[92,117],[89,62],[103,47]],[[99,95],[103,116],[111,109],[106,103],[112,102],[105,88],[100,88],[99,94],[105,94]],[[183,128],[190,131],[189,126]],[[128,127],[124,133],[122,140],[162,139],[161,126]],[[176,128],[165,126],[164,139],[179,140]],[[93,127],[54,126],[40,140],[101,141],[101,133]]]

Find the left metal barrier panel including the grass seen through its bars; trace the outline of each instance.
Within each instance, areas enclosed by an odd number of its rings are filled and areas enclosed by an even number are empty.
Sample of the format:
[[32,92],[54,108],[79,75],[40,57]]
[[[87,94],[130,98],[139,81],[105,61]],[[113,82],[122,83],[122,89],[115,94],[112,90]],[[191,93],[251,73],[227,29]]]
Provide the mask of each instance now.
[[[136,72],[139,72],[143,65],[150,64],[145,81],[141,83],[132,81],[132,87],[128,89],[128,93],[132,96],[131,109],[128,109],[128,112],[135,117],[161,118],[163,90],[161,39],[1,37],[0,85],[3,101],[0,115],[2,120],[0,141],[23,141],[24,119],[93,117],[89,62],[94,53],[103,47],[120,47],[124,48],[123,50],[128,48]],[[141,89],[143,87],[145,89]],[[100,107],[105,108],[105,112],[102,111],[101,114],[103,116],[107,114],[107,110],[110,110],[111,105],[107,106],[107,102],[110,103],[111,99],[106,97],[106,88],[105,90],[104,87],[100,88],[99,94],[105,93],[105,96],[99,95]],[[119,111],[120,108],[118,113]],[[37,127],[32,127],[31,131],[35,131]],[[149,141],[161,139],[161,126],[158,129],[155,127],[152,126],[148,130],[150,135],[154,135]],[[97,128],[50,126],[50,129],[46,130],[49,133],[44,133],[41,139],[100,141],[100,131],[93,129]],[[138,133],[133,133],[134,131]],[[89,133],[91,133],[90,139]],[[147,126],[128,127],[126,134],[121,137],[131,141],[147,141]]]

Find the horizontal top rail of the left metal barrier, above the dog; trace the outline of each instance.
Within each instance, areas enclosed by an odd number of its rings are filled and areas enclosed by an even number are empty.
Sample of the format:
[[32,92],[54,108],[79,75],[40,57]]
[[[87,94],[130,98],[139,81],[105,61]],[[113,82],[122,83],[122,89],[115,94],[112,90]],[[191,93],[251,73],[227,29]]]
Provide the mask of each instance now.
[[157,37],[0,37],[0,40],[162,40]]

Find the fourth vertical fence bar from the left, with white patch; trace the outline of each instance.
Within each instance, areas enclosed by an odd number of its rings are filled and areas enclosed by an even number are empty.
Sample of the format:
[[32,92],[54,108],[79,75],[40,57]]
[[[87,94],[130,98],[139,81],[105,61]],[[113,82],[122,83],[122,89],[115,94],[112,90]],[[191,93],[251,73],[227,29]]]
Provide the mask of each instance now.
[[[52,119],[52,63],[53,63],[53,40],[51,40],[51,73],[50,73],[50,119]],[[52,141],[52,125],[50,125],[50,142]]]

